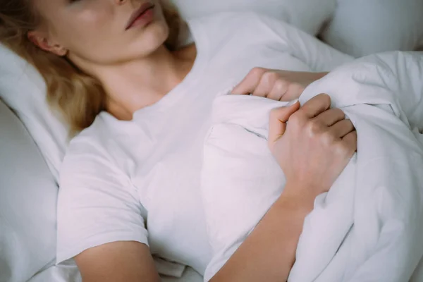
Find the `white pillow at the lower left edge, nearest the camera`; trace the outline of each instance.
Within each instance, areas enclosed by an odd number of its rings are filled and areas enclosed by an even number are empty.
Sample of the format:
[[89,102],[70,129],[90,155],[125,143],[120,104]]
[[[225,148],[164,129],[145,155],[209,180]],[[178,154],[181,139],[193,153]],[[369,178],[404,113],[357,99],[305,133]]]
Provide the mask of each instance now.
[[54,264],[57,192],[37,145],[0,101],[0,281],[27,281]]

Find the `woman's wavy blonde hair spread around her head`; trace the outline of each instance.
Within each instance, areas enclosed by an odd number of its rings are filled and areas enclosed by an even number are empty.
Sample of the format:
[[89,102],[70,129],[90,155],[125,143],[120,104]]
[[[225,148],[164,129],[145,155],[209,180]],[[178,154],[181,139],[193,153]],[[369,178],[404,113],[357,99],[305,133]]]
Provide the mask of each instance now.
[[[162,3],[169,26],[168,49],[176,49],[181,19],[176,8]],[[47,85],[47,101],[59,108],[71,133],[89,127],[105,109],[106,94],[100,82],[80,71],[66,57],[43,51],[30,42],[27,33],[40,23],[30,0],[1,0],[0,42],[35,66]]]

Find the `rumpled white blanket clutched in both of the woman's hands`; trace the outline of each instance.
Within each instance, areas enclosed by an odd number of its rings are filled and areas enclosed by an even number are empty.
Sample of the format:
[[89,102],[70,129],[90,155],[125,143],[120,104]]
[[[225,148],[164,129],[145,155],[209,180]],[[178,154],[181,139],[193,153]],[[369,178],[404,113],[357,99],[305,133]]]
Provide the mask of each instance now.
[[[357,154],[307,216],[289,281],[408,281],[423,255],[423,55],[369,56],[309,85],[353,121]],[[202,195],[214,258],[209,280],[283,190],[266,146],[283,102],[222,95],[204,142]],[[281,250],[283,252],[283,250]]]

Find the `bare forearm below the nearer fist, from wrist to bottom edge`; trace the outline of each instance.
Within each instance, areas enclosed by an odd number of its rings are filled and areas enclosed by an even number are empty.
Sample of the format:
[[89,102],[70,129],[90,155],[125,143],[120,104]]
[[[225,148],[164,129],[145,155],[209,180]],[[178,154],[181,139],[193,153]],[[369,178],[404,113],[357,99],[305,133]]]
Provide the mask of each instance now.
[[313,200],[281,196],[211,282],[287,281]]

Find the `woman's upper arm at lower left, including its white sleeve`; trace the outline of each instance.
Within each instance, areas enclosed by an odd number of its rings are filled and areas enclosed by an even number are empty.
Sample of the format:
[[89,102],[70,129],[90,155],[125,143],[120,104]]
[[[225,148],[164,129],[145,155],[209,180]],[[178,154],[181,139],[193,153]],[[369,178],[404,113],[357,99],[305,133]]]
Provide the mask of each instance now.
[[60,184],[58,263],[74,257],[83,282],[160,281],[137,192],[90,135],[72,140]]

